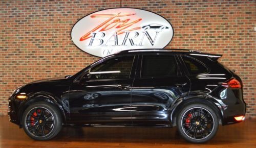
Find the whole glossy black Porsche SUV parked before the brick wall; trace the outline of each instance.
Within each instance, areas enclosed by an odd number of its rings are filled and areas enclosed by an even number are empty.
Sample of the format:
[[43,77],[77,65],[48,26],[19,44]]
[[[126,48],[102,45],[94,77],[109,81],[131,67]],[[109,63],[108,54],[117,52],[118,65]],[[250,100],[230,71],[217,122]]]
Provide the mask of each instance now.
[[33,139],[62,125],[174,127],[201,143],[219,124],[245,119],[242,81],[217,60],[188,50],[129,50],[104,57],[73,76],[21,86],[9,98],[10,121]]

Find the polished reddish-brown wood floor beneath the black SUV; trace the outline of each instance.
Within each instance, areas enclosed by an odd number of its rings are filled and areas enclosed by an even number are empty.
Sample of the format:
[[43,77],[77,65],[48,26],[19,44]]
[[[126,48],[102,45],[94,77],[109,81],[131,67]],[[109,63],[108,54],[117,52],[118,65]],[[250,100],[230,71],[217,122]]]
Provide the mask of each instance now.
[[176,128],[64,127],[52,140],[35,141],[7,116],[0,116],[0,147],[256,147],[256,119],[220,126],[209,142],[191,144],[179,136]]

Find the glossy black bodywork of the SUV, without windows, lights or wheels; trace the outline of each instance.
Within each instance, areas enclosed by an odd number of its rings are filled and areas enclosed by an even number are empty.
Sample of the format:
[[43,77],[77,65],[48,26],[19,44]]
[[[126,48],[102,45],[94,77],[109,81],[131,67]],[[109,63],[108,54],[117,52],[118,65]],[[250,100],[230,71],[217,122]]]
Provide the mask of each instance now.
[[[79,81],[101,62],[127,55],[134,56],[130,78]],[[175,56],[179,67],[177,76],[141,78],[143,55]],[[232,78],[241,84],[242,81],[209,55],[219,56],[176,50],[123,51],[102,58],[73,76],[39,80],[17,88],[9,97],[10,121],[22,126],[20,118],[26,107],[44,100],[58,106],[65,124],[172,127],[176,126],[179,109],[193,102],[214,109],[222,125],[236,123],[233,117],[245,115],[246,110],[242,89],[226,88],[221,84]],[[208,71],[189,75],[182,56],[195,58]],[[27,94],[26,100],[16,98],[20,93]]]

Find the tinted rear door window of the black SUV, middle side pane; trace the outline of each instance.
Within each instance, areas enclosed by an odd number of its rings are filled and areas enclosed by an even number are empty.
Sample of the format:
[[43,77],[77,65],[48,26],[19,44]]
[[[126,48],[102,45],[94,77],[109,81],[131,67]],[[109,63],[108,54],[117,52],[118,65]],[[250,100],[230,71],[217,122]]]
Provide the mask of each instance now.
[[178,66],[172,55],[143,56],[141,77],[165,77],[177,75]]

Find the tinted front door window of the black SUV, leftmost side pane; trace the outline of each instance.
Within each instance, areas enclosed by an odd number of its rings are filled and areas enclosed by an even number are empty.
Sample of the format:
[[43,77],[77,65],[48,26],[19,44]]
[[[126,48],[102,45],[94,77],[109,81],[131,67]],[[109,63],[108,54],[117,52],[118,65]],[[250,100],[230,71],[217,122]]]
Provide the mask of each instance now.
[[90,79],[127,79],[133,64],[134,56],[109,59],[90,70]]

